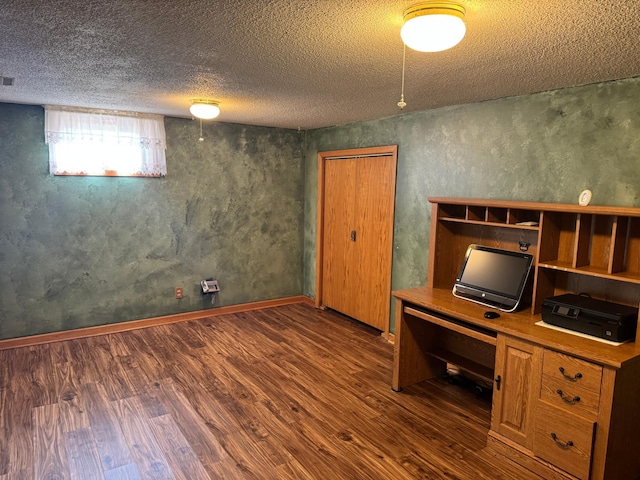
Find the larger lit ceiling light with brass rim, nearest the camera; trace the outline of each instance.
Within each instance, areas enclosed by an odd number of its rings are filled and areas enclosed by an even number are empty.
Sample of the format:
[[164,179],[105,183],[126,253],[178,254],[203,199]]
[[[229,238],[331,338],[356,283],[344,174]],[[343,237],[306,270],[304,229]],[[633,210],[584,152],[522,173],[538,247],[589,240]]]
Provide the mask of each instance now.
[[422,2],[404,11],[400,36],[419,52],[441,52],[464,38],[464,7],[450,2]]

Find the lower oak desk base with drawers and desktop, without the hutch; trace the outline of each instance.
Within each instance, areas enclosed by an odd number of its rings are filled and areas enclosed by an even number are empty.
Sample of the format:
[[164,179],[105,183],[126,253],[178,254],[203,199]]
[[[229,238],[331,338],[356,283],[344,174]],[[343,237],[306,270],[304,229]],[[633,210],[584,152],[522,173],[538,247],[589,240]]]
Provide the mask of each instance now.
[[455,364],[494,384],[488,444],[495,450],[544,478],[640,477],[638,344],[535,325],[540,315],[528,310],[488,320],[486,307],[449,289],[393,294],[394,390]]

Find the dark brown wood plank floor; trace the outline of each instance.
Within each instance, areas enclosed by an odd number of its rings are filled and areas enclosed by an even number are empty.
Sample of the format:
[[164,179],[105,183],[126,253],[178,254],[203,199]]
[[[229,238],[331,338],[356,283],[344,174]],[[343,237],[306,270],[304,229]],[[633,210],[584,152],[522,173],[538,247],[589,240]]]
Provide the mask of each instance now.
[[489,402],[390,389],[393,348],[290,305],[0,351],[0,480],[538,479]]

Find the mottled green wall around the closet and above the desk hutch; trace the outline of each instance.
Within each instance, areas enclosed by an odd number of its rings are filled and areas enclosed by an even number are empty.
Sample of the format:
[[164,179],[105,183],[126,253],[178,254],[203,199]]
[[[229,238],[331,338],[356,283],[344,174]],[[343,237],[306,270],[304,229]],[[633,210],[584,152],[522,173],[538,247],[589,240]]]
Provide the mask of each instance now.
[[392,288],[409,288],[426,283],[428,196],[577,203],[589,188],[594,205],[640,206],[639,105],[635,78],[308,132],[305,294],[316,290],[318,151],[398,145]]

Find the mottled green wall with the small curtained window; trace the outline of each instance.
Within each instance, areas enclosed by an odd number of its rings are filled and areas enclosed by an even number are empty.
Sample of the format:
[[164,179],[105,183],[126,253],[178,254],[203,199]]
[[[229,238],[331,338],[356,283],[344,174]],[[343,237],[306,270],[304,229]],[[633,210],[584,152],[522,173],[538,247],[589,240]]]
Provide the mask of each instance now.
[[218,305],[302,293],[302,136],[165,126],[166,178],[53,177],[43,109],[0,103],[0,338],[212,308],[210,276]]

